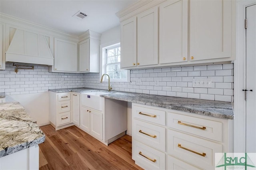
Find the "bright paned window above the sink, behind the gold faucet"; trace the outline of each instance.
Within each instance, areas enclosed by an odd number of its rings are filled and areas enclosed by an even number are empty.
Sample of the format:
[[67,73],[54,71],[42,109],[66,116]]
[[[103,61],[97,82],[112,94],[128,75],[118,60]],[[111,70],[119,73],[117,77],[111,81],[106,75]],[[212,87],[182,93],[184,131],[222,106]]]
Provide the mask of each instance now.
[[[120,59],[120,43],[102,48],[102,74],[108,74],[112,82],[130,81],[130,71],[120,68]],[[104,78],[107,79],[107,76]]]

